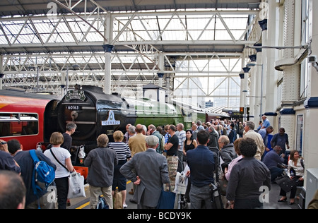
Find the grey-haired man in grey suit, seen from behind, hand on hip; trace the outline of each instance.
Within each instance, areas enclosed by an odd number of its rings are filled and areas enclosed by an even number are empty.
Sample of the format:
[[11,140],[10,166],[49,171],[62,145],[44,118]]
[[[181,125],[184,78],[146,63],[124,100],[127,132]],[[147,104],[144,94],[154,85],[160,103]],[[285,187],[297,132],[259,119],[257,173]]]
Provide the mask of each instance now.
[[136,153],[119,171],[136,185],[134,200],[137,201],[137,208],[155,209],[163,183],[169,183],[167,159],[155,152],[159,144],[158,137],[149,135],[145,140],[148,149]]

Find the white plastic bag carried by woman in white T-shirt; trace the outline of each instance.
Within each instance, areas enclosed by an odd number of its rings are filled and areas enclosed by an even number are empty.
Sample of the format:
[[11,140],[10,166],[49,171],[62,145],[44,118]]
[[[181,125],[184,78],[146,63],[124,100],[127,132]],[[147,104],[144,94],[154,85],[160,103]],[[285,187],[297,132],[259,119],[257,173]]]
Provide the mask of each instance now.
[[69,174],[69,193],[67,198],[80,198],[86,197],[84,189],[84,176],[80,173],[73,171]]

